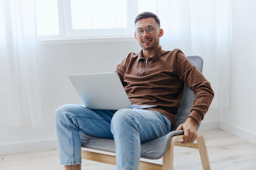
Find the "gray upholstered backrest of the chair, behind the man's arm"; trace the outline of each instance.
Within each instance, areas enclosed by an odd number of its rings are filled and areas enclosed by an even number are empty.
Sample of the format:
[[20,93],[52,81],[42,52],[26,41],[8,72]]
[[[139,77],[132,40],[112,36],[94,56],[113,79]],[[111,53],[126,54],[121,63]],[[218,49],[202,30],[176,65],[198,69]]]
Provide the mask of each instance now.
[[[203,59],[200,56],[188,56],[189,61],[196,66],[196,68],[202,72],[203,70]],[[186,83],[184,83],[183,96],[180,102],[179,110],[175,117],[175,125],[172,127],[172,131],[175,131],[180,124],[183,124],[190,113],[190,109],[193,106],[195,94],[192,90],[188,89]],[[198,129],[200,124],[196,127]]]

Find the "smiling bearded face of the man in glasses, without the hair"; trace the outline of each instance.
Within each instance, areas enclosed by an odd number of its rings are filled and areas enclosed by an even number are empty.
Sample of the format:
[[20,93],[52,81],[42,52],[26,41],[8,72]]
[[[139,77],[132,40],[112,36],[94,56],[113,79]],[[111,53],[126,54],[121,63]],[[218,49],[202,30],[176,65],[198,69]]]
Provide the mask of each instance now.
[[[159,28],[159,25],[156,23],[154,18],[142,18],[136,22],[136,31],[134,33],[135,38],[139,41],[140,46],[143,50],[154,50],[158,48],[159,45],[159,37],[163,36],[163,29]],[[146,31],[145,29],[150,28]],[[140,36],[136,34],[136,32],[143,31],[143,34]],[[141,32],[142,33],[142,32]]]

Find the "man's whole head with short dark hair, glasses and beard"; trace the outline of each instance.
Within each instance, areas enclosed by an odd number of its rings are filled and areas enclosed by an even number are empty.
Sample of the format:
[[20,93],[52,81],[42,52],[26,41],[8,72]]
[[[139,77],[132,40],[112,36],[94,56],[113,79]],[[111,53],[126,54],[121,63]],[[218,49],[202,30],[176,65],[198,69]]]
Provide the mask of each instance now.
[[160,29],[160,20],[152,12],[140,13],[134,20],[134,37],[140,43],[143,50],[156,50],[159,45],[159,37],[163,36]]

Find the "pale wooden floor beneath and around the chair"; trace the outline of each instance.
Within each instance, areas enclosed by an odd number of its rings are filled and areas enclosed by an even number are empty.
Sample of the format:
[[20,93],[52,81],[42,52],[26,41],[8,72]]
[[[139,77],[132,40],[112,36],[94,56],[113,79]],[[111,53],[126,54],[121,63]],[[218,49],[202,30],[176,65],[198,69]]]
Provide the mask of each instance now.
[[[256,169],[256,145],[220,129],[202,132],[205,134],[212,169]],[[161,164],[161,160],[150,160],[150,162]],[[58,164],[57,150],[45,150],[0,155],[0,169],[58,170],[63,167]],[[115,166],[83,160],[82,169],[114,170]],[[197,150],[175,146],[174,169],[202,169]]]

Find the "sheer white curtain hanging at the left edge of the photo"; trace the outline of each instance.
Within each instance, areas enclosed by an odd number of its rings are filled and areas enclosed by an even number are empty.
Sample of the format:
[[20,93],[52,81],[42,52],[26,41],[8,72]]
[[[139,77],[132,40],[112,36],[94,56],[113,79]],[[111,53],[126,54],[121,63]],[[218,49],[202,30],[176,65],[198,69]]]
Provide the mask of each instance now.
[[0,0],[0,124],[42,127],[34,0]]

